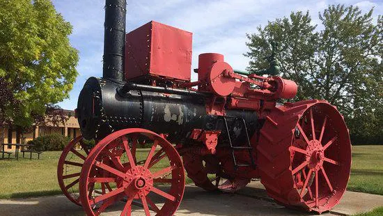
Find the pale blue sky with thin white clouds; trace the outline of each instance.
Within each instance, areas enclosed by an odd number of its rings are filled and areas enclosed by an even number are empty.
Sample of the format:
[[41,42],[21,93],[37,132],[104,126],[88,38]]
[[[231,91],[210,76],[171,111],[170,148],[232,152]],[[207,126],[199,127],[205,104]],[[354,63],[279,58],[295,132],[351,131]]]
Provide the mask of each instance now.
[[[104,43],[104,0],[53,0],[58,13],[73,26],[70,43],[79,51],[79,76],[70,98],[58,103],[63,109],[75,109],[77,98],[88,77],[102,76]],[[249,59],[246,33],[256,33],[257,26],[290,15],[291,11],[309,11],[313,24],[318,13],[329,4],[359,6],[367,12],[374,7],[374,19],[383,15],[383,0],[127,0],[126,31],[155,20],[193,33],[192,68],[197,68],[198,54],[224,54],[233,68],[245,70]],[[196,80],[192,72],[192,80]]]

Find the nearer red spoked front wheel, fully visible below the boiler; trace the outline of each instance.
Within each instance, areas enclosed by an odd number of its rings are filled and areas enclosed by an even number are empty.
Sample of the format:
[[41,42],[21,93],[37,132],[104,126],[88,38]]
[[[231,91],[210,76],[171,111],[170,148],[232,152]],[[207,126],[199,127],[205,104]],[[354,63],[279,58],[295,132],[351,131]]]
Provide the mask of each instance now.
[[[144,160],[136,149],[139,137],[153,141],[152,148],[143,154]],[[164,191],[157,184],[170,187]],[[97,185],[101,185],[98,194]],[[88,215],[100,215],[107,208],[131,215],[132,205],[141,206],[146,215],[173,215],[184,190],[185,173],[175,148],[158,134],[139,128],[120,130],[102,139],[81,170],[81,203]],[[125,203],[118,205],[120,201]]]

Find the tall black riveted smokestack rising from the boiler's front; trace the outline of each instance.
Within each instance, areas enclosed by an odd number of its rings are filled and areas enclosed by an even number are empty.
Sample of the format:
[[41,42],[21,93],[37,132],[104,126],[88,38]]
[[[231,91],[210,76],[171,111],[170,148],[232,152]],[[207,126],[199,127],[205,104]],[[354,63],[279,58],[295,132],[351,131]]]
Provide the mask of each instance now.
[[102,77],[124,79],[126,0],[106,0]]

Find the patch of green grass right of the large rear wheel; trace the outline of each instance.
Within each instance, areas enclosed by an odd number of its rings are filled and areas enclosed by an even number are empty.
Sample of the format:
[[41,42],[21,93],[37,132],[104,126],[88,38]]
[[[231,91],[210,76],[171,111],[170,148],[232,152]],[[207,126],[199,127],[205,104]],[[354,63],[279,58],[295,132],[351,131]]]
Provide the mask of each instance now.
[[383,146],[352,146],[347,190],[383,195]]

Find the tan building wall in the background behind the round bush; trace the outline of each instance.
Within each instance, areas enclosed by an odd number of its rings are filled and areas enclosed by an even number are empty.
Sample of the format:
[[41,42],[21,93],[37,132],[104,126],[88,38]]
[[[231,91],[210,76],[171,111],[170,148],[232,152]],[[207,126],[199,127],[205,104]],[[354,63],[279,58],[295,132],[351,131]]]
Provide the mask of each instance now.
[[[60,124],[54,126],[53,124],[47,123],[48,126],[34,126],[34,129],[29,133],[19,134],[19,141],[17,141],[17,133],[12,132],[12,139],[8,139],[8,127],[4,128],[4,144],[26,144],[28,141],[33,140],[33,137],[41,137],[49,134],[62,134],[68,136],[72,139],[81,135],[81,130],[79,129],[79,123],[75,116],[70,116],[68,121],[65,124]],[[10,142],[9,142],[10,141]],[[2,146],[0,145],[0,151],[2,151]],[[15,151],[15,146],[4,146],[4,151]]]

